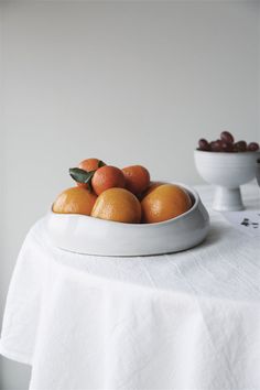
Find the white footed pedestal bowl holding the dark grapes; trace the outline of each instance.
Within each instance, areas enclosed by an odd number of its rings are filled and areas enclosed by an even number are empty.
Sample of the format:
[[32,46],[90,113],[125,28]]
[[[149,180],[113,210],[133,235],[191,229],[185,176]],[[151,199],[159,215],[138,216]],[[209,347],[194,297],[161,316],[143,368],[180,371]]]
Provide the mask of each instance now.
[[216,185],[213,208],[218,212],[243,209],[239,186],[256,177],[259,152],[219,153],[195,150],[201,176]]

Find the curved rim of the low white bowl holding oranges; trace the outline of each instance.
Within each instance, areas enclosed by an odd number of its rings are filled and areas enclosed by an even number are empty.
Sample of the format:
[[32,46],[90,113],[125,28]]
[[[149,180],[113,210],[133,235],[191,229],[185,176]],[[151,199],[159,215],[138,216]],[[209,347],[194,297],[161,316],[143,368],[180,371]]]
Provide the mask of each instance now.
[[[165,183],[166,184],[166,183]],[[107,220],[107,219],[101,219],[101,218],[95,218],[95,217],[91,217],[89,215],[84,215],[84,214],[63,214],[63,213],[54,213],[52,207],[51,207],[51,210],[48,210],[48,214],[51,214],[52,216],[54,217],[59,217],[59,218],[68,218],[68,217],[78,217],[79,219],[85,219],[85,220],[91,220],[94,221],[95,220],[95,224],[97,224],[97,220],[99,223],[101,223],[104,226],[107,225],[107,226],[124,226],[126,228],[131,228],[131,227],[140,227],[142,229],[145,229],[148,227],[155,227],[155,226],[166,226],[166,225],[170,225],[173,220],[180,220],[181,218],[183,217],[186,217],[188,214],[191,214],[195,208],[197,208],[199,202],[201,202],[201,197],[197,193],[196,189],[194,189],[193,187],[189,187],[188,185],[186,184],[183,184],[183,183],[178,183],[178,182],[175,182],[175,183],[167,183],[167,184],[174,184],[174,185],[178,185],[181,187],[183,187],[184,189],[186,189],[188,192],[188,195],[192,195],[193,198],[194,198],[194,202],[193,202],[193,205],[192,207],[178,215],[177,217],[173,217],[171,219],[166,219],[166,220],[162,220],[161,223],[154,223],[154,224],[128,224],[128,223],[119,223],[119,221],[116,221],[116,220]]]

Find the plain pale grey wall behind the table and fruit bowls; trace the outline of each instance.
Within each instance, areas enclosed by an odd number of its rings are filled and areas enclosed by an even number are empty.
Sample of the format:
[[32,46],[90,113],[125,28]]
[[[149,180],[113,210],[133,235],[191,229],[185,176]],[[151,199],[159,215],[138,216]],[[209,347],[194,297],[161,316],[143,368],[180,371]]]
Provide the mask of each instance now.
[[[0,321],[24,236],[97,156],[199,183],[193,150],[260,140],[257,1],[1,2]],[[30,370],[0,360],[0,388]]]

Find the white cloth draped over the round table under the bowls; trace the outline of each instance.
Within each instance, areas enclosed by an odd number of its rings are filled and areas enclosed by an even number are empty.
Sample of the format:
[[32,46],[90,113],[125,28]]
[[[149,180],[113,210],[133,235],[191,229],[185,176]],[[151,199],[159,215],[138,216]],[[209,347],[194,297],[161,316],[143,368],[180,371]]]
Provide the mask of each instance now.
[[[208,206],[212,189],[198,191]],[[259,188],[243,193],[259,208]],[[197,248],[143,258],[65,252],[40,220],[14,269],[1,354],[32,365],[36,390],[260,389],[260,242],[210,218]]]

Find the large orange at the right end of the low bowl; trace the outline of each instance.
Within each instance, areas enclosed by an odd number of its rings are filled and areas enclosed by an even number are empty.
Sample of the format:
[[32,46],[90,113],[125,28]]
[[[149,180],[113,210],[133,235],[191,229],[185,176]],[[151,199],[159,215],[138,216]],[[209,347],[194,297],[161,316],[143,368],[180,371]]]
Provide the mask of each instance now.
[[161,223],[187,212],[192,201],[185,189],[174,184],[163,184],[148,194],[141,202],[143,221]]

